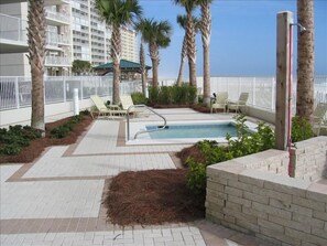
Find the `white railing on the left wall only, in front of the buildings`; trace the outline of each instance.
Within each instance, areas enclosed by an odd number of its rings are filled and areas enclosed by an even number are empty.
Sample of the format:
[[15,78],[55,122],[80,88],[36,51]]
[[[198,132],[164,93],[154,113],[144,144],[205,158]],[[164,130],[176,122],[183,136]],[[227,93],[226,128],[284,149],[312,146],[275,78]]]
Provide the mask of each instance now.
[[[112,96],[112,78],[108,76],[47,76],[44,81],[45,104],[73,100],[74,88],[78,88],[79,98],[90,95]],[[31,77],[0,77],[0,110],[31,106]],[[141,82],[122,82],[120,93],[142,92]]]

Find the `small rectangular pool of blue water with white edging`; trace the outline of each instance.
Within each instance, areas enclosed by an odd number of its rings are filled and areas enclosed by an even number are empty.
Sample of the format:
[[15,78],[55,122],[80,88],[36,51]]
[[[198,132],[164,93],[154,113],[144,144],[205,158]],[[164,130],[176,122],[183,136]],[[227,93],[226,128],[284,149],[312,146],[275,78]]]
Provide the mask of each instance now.
[[[231,137],[237,136],[235,125],[233,120],[170,121],[166,129],[156,130],[162,122],[132,122],[127,145],[195,143],[204,139],[227,142],[227,132]],[[247,126],[250,131],[255,131],[255,124],[247,121]],[[140,130],[151,132],[140,133],[134,139]]]

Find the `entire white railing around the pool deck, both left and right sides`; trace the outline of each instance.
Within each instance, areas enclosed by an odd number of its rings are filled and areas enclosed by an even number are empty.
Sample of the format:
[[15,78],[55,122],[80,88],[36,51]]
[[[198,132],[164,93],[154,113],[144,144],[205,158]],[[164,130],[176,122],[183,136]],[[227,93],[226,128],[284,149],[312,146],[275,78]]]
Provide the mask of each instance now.
[[[296,79],[294,79],[296,82]],[[161,78],[160,85],[173,85],[175,79]],[[197,78],[198,88],[203,92],[203,78]],[[79,89],[80,98],[92,94],[100,96],[112,95],[112,78],[107,76],[73,76],[46,77],[45,103],[72,100],[73,88]],[[121,94],[142,92],[141,82],[121,83]],[[228,92],[231,100],[238,99],[240,93],[248,92],[248,105],[264,110],[275,110],[275,78],[274,77],[211,77],[211,94]],[[293,85],[293,109],[296,104],[296,84]],[[31,105],[31,78],[0,77],[0,109],[26,107]],[[315,104],[327,103],[327,76],[315,77]]]

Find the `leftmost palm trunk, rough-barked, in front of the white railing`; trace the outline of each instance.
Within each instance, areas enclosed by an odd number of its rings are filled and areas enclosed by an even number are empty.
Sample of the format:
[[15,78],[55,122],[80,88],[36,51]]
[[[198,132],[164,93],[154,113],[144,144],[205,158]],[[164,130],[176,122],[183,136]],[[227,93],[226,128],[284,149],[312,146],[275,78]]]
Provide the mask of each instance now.
[[28,39],[29,62],[32,75],[31,127],[45,130],[44,124],[44,60],[46,43],[46,22],[44,0],[29,0]]

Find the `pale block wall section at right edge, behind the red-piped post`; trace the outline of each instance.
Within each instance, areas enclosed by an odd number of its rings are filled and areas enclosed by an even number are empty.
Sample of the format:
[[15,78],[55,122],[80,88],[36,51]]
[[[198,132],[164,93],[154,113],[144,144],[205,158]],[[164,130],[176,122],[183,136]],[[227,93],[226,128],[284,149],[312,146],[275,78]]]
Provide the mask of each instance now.
[[296,142],[291,150],[291,177],[316,181],[327,177],[327,138]]

